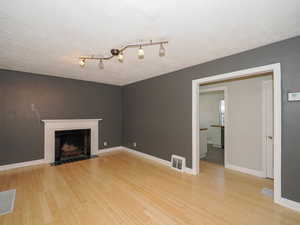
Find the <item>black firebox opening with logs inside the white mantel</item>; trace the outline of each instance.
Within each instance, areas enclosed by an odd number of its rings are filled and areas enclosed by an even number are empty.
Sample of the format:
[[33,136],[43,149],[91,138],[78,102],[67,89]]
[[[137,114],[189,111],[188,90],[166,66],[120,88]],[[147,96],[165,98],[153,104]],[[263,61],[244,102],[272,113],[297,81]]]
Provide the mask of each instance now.
[[54,165],[91,157],[91,129],[55,131]]

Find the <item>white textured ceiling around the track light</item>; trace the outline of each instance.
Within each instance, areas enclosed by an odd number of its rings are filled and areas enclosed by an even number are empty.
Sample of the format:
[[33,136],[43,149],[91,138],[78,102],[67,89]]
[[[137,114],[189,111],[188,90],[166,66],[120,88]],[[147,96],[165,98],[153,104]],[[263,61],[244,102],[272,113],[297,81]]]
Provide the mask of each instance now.
[[[158,76],[300,35],[299,0],[9,0],[0,3],[0,68],[116,85]],[[139,40],[170,41],[167,55],[135,49],[99,70],[80,55],[109,55]]]

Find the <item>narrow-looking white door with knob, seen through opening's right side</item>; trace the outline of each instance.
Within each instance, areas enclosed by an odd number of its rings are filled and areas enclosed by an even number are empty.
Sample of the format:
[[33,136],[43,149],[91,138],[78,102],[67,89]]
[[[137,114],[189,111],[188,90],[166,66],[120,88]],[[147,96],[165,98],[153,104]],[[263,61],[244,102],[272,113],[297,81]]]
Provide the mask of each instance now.
[[274,178],[274,147],[273,147],[273,81],[263,82],[263,123],[266,177]]

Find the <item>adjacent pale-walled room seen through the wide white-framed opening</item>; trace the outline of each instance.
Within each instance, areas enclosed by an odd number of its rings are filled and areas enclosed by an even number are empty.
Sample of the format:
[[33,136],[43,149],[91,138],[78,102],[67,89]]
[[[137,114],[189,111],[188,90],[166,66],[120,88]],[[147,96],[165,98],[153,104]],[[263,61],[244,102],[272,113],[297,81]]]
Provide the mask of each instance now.
[[200,85],[200,160],[273,179],[273,92],[272,73]]

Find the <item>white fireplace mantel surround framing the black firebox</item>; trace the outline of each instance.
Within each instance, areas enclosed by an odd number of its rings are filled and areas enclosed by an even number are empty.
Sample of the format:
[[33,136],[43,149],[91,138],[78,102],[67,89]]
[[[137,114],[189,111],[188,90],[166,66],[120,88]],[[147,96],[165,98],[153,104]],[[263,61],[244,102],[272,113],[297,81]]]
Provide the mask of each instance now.
[[44,159],[52,163],[55,159],[55,131],[91,129],[91,155],[98,153],[99,121],[102,119],[42,120],[45,123]]

